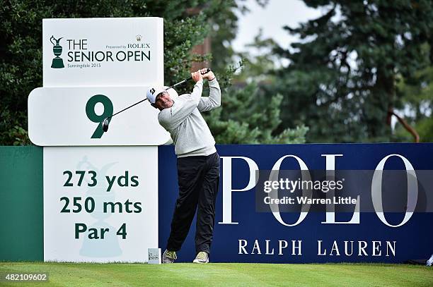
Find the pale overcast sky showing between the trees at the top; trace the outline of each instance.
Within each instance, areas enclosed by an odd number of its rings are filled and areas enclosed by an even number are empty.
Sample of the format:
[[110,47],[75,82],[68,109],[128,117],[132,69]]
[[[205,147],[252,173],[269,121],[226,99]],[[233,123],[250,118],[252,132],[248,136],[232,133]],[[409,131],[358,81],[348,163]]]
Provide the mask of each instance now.
[[287,48],[296,38],[282,29],[284,25],[297,27],[299,23],[321,16],[320,10],[308,8],[300,0],[270,0],[265,8],[258,6],[255,0],[247,0],[246,6],[250,12],[238,15],[238,33],[232,43],[235,51],[245,51],[245,45],[253,42],[260,28],[265,38],[271,37]]

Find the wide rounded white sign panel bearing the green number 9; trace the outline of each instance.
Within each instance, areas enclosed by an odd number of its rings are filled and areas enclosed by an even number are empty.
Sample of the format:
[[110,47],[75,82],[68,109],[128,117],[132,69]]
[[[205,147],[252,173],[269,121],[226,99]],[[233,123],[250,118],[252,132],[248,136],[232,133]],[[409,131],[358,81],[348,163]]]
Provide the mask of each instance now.
[[113,116],[106,133],[102,129],[104,118],[146,99],[147,89],[39,87],[28,97],[29,138],[40,146],[163,145],[170,134],[148,101]]

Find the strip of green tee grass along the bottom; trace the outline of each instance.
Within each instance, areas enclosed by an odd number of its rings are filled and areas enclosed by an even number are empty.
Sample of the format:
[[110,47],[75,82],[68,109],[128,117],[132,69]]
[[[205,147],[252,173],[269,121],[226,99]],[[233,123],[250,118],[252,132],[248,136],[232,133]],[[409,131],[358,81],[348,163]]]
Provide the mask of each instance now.
[[46,272],[49,280],[0,286],[433,286],[433,267],[405,264],[0,262],[6,272]]

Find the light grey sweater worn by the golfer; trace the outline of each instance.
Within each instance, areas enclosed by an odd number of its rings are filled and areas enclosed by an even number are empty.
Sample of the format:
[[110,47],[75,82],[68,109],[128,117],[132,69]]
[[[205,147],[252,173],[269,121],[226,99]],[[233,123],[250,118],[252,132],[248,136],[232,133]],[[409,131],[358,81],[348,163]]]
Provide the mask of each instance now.
[[195,83],[191,94],[181,94],[173,106],[158,114],[158,122],[171,135],[178,157],[209,155],[217,152],[215,140],[200,111],[221,105],[217,79],[209,81],[209,97],[201,97],[203,81]]

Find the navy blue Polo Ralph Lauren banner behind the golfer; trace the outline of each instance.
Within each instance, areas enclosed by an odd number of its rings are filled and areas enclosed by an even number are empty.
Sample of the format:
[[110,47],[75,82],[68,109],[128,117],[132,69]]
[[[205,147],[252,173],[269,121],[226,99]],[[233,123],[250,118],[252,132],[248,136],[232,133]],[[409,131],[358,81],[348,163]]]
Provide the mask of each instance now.
[[[432,212],[260,212],[255,196],[257,170],[374,171],[381,164],[383,170],[433,170],[433,144],[217,145],[217,150],[221,177],[211,262],[405,262],[433,253]],[[173,146],[158,147],[158,163],[164,249],[178,196]],[[355,192],[360,202],[366,193],[371,200],[371,190]],[[194,259],[194,236],[195,221],[178,262]]]

